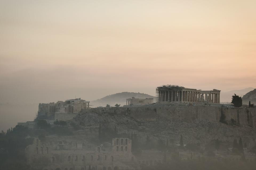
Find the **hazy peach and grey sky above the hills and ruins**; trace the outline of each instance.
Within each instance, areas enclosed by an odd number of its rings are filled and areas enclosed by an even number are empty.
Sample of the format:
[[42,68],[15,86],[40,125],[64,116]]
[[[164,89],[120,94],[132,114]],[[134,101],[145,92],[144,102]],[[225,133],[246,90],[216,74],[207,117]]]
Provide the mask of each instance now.
[[0,0],[0,103],[255,87],[255,0]]

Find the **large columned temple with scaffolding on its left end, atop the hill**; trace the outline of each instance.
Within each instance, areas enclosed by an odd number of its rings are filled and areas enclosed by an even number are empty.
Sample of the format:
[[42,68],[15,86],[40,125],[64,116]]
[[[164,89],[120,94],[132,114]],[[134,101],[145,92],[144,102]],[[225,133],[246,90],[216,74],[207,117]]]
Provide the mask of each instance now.
[[156,88],[157,102],[176,103],[220,103],[220,90],[197,90],[176,85],[163,85]]

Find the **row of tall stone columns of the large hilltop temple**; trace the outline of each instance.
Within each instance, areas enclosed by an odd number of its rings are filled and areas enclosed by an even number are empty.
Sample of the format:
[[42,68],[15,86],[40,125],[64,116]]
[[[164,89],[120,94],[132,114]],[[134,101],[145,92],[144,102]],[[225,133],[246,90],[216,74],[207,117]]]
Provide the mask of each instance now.
[[159,91],[158,101],[182,101],[182,102],[203,102],[219,103],[220,94],[205,93],[195,91]]

